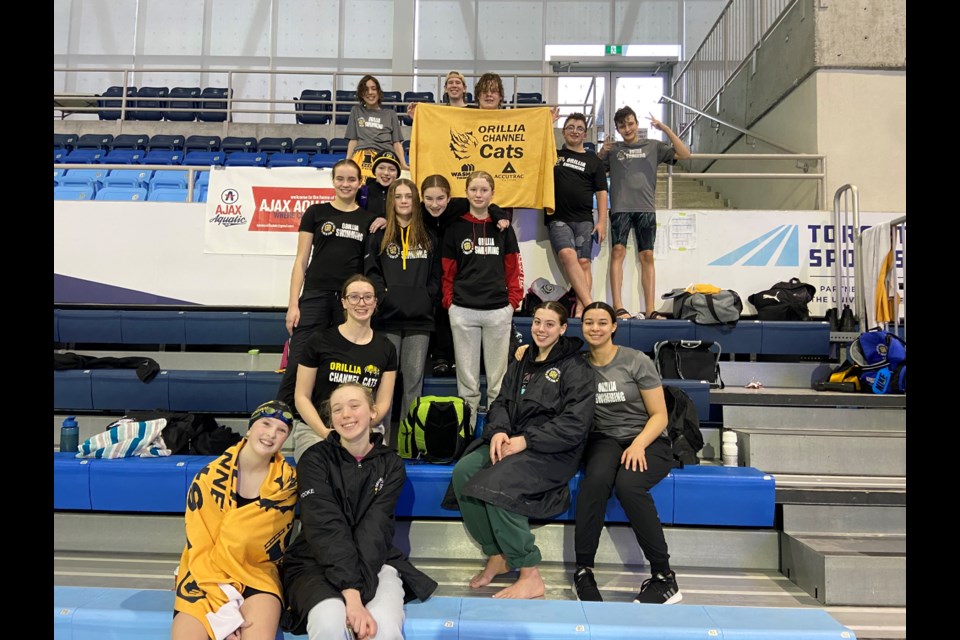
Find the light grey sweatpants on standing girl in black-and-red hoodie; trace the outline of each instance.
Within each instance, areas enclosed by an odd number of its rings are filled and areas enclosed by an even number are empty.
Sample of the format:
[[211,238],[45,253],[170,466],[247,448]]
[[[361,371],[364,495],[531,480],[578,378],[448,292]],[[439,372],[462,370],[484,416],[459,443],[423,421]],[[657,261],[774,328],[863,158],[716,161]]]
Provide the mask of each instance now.
[[480,406],[480,354],[487,374],[487,406],[500,394],[507,372],[513,307],[467,309],[450,305],[453,352],[457,359],[457,390],[470,405],[470,426],[476,427]]

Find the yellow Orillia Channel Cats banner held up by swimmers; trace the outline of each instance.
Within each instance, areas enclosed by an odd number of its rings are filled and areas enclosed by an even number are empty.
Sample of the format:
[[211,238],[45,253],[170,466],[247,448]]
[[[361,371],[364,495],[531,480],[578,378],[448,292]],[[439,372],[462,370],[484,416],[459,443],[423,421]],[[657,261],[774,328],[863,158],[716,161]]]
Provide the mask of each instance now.
[[493,176],[493,201],[501,207],[553,212],[557,147],[547,107],[464,109],[418,104],[410,138],[410,171],[420,184],[438,173],[453,196],[466,195],[474,171]]

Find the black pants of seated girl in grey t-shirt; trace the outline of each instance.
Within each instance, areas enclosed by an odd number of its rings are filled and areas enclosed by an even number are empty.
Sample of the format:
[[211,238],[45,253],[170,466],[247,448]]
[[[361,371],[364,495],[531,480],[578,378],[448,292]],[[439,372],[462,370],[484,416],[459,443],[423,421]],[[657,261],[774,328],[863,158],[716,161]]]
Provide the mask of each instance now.
[[674,467],[670,443],[657,438],[647,447],[647,470],[629,471],[620,464],[620,456],[633,440],[618,441],[598,433],[590,435],[584,452],[584,473],[577,494],[576,529],[573,548],[578,567],[592,567],[600,544],[610,491],[633,527],[651,573],[670,571],[670,554],[663,537],[663,525],[657,515],[650,489]]

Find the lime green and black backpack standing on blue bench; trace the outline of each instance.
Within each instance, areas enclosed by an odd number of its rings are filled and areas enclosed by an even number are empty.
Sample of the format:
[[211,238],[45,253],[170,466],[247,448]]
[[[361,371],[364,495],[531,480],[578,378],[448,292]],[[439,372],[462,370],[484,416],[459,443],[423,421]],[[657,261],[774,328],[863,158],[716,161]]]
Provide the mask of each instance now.
[[470,405],[457,396],[421,396],[400,422],[397,453],[401,458],[434,464],[459,460],[470,441]]

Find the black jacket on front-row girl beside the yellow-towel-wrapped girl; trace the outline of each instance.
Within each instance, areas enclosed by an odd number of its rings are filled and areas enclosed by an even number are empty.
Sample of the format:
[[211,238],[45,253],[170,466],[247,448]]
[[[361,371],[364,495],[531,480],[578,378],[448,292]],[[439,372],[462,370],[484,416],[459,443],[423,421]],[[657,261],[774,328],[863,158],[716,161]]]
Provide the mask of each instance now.
[[357,462],[333,432],[297,464],[301,531],[281,570],[283,628],[294,634],[306,633],[310,609],[341,598],[344,589],[357,589],[364,604],[370,602],[384,564],[400,574],[407,602],[426,600],[437,588],[394,546],[394,510],[406,468],[381,434],[370,440],[373,449]]

